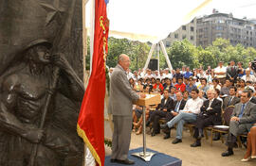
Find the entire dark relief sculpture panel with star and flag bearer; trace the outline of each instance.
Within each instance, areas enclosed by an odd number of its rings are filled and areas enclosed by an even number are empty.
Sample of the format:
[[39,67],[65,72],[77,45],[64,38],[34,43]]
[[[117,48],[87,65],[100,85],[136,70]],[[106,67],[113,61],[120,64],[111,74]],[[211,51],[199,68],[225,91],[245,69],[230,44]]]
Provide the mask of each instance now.
[[79,166],[82,2],[0,1],[0,165]]

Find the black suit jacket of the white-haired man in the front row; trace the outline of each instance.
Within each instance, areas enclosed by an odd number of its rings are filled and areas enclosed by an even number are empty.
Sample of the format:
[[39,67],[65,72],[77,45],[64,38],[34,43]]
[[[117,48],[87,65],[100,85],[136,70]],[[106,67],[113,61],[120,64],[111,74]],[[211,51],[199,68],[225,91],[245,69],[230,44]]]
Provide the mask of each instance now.
[[[210,118],[214,125],[219,125],[221,124],[221,104],[221,101],[216,98],[213,99],[211,105],[210,100],[206,100],[204,101],[203,106],[200,108],[200,114]],[[208,109],[209,105],[210,109]]]

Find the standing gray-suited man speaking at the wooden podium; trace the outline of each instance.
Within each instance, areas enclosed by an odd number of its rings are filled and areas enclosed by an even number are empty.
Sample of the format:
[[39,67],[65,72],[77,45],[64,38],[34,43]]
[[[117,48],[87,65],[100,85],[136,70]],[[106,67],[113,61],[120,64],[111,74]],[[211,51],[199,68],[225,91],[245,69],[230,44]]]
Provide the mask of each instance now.
[[133,91],[126,72],[130,66],[130,58],[124,54],[119,56],[119,64],[114,69],[110,78],[110,98],[108,111],[113,114],[114,133],[112,137],[111,162],[121,164],[134,164],[128,159],[128,151],[131,141],[132,108],[133,101],[144,94]]

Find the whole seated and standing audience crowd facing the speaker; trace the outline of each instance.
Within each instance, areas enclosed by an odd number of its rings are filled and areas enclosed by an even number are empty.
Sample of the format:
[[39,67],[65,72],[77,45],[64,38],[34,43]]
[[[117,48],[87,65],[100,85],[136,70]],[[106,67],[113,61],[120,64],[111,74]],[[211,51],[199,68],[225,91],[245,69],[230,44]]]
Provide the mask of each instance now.
[[[204,127],[223,125],[223,113],[230,106],[233,113],[229,122],[227,137],[228,150],[223,157],[233,155],[237,137],[248,134],[244,140],[247,154],[242,161],[256,158],[256,78],[255,72],[249,67],[245,69],[242,62],[235,64],[234,60],[226,67],[220,61],[218,66],[207,70],[202,68],[191,70],[182,67],[176,70],[146,71],[138,70],[126,73],[130,86],[137,92],[160,93],[161,103],[146,107],[146,126],[151,126],[154,137],[162,129],[164,139],[170,138],[173,128],[176,128],[174,144],[182,142],[182,131],[185,124],[193,124],[192,147],[201,146],[204,137]],[[111,75],[113,69],[109,70]],[[133,131],[142,132],[142,108],[133,107]],[[160,125],[159,120],[165,124]],[[219,140],[216,134],[214,141]],[[243,140],[242,140],[243,141]]]

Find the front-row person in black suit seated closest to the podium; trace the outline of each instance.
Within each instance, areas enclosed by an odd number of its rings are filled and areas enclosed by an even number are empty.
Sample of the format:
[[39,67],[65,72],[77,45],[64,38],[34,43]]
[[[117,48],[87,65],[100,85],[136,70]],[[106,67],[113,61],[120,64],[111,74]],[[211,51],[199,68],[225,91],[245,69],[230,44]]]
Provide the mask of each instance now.
[[151,136],[155,136],[156,134],[160,133],[160,118],[165,118],[167,112],[170,112],[171,109],[174,107],[174,100],[171,97],[169,97],[168,90],[164,90],[163,96],[164,98],[161,100],[161,103],[157,106],[155,111],[152,112],[149,121],[147,122],[147,125],[153,123],[153,132],[151,133]]

